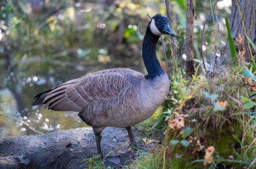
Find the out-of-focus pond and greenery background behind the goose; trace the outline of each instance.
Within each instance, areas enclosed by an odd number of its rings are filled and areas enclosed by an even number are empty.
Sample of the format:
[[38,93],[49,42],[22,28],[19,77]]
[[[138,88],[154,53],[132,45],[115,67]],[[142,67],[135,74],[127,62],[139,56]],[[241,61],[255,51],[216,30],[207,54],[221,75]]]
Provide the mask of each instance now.
[[[203,22],[212,1],[195,1],[195,58]],[[220,0],[214,9],[226,40],[224,17],[230,15],[231,0]],[[8,135],[47,133],[84,127],[85,123],[63,112],[31,107],[33,97],[72,78],[106,68],[125,67],[146,73],[141,58],[143,35],[150,18],[165,15],[160,0],[3,0],[0,2],[0,138]],[[170,1],[173,40],[163,36],[172,74],[185,70],[185,2]],[[203,52],[206,62],[216,44],[216,27],[205,26]],[[226,43],[226,42],[224,42]],[[162,64],[164,51],[159,42]]]

